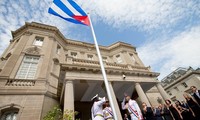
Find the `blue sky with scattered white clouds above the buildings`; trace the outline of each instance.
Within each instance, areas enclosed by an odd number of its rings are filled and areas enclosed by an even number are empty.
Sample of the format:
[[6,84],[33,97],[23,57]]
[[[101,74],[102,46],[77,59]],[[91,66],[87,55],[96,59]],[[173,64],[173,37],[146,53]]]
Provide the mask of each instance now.
[[[122,41],[159,80],[178,67],[200,67],[200,0],[75,0],[90,17],[99,45]],[[0,55],[25,22],[56,26],[69,39],[94,43],[89,27],[49,14],[52,0],[1,0]]]

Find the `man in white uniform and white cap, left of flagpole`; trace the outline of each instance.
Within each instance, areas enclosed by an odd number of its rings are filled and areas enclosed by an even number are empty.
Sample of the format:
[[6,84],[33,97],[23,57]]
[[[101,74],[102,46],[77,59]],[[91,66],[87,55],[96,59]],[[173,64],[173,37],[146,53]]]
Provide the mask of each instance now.
[[93,106],[91,108],[92,120],[104,120],[103,116],[103,104],[106,102],[106,98],[98,97],[98,94],[92,98]]

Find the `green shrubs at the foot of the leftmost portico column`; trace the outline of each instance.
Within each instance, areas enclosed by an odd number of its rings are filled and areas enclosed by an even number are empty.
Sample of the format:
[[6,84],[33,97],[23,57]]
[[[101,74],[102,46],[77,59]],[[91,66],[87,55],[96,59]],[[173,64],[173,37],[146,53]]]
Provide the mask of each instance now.
[[[44,116],[43,120],[73,120],[73,117],[77,115],[77,111],[73,110],[65,110],[64,115],[59,106],[55,106],[52,110],[50,110],[46,116]],[[76,119],[80,120],[80,119]]]

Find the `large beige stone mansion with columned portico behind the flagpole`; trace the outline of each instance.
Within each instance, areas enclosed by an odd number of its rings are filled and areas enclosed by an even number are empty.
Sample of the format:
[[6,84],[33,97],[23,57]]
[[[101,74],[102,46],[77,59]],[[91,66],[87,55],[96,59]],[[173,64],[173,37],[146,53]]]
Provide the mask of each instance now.
[[[40,120],[59,104],[88,120],[91,98],[106,96],[94,44],[67,39],[56,27],[35,22],[12,36],[0,60],[0,117]],[[100,51],[116,106],[124,92],[153,104],[154,96],[145,92],[155,85],[168,98],[157,81],[159,73],[144,66],[135,47],[117,42],[100,46]],[[120,119],[118,106],[116,111]]]

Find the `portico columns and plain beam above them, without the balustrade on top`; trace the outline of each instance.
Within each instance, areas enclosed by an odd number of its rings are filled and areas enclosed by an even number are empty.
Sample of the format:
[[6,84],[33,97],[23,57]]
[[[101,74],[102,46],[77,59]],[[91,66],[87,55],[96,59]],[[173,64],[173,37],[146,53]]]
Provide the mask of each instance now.
[[[107,97],[104,80],[99,72],[82,71],[79,74],[76,73],[76,75],[74,72],[74,70],[65,72],[65,89],[61,94],[63,99],[61,104],[63,104],[64,110],[78,111],[78,116],[81,119],[89,119],[92,107],[91,98],[96,94],[99,94],[100,97]],[[139,103],[145,102],[148,106],[151,105],[145,92],[155,86],[158,83],[157,81],[149,77],[138,78],[137,80],[135,79],[136,76],[131,75],[126,75],[126,79],[123,79],[119,74],[107,74],[107,77],[111,95],[116,98],[113,102],[116,106],[119,105],[116,110],[117,115],[119,115],[118,118],[121,118],[119,107],[121,107],[120,101],[123,100],[124,93],[132,96],[132,98],[138,98]]]

